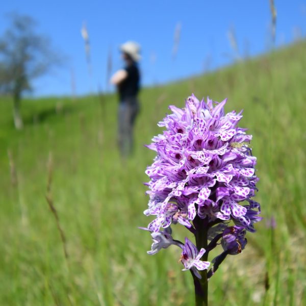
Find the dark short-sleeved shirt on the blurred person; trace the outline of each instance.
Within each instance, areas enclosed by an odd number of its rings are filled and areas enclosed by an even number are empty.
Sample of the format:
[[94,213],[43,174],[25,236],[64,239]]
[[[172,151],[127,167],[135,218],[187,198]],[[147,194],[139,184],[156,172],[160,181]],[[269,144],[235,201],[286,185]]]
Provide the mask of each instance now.
[[120,102],[127,98],[136,97],[140,88],[140,74],[137,64],[126,66],[124,70],[127,72],[127,77],[118,86]]

